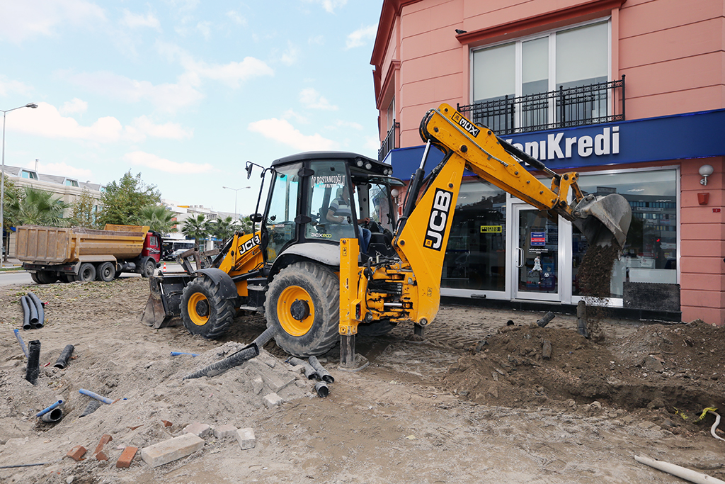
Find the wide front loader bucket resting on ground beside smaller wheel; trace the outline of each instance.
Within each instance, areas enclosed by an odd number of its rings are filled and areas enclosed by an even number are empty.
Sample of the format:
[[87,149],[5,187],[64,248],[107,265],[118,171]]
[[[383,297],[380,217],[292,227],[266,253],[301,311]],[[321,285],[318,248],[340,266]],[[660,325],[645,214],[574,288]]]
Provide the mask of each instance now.
[[194,276],[188,274],[159,274],[149,277],[149,300],[141,322],[148,326],[165,328],[175,326],[181,316],[181,295]]

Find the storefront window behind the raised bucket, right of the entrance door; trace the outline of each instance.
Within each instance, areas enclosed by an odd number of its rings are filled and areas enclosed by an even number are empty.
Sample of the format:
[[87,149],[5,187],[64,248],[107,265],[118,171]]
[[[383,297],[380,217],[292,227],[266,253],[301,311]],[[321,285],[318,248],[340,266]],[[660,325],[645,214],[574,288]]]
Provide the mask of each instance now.
[[[676,170],[581,175],[579,187],[585,193],[621,194],[632,210],[624,250],[612,269],[610,297],[622,297],[625,281],[677,282]],[[587,247],[587,240],[574,228],[573,295],[581,295],[577,271]]]

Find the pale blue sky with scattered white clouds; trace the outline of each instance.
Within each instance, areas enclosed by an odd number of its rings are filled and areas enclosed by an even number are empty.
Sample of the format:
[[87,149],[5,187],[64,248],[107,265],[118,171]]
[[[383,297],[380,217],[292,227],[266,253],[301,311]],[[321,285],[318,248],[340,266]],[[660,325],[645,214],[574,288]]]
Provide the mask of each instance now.
[[381,5],[2,1],[0,110],[38,104],[7,113],[5,164],[101,185],[141,173],[163,199],[248,215],[247,160],[377,157]]

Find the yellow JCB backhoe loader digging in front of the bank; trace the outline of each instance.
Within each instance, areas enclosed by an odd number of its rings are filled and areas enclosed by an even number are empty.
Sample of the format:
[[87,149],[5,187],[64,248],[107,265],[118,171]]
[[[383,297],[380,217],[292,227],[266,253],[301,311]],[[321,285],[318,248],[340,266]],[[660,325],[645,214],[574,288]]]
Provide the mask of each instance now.
[[[263,311],[287,353],[319,355],[340,341],[341,366],[355,366],[356,334],[382,335],[404,321],[422,332],[434,320],[465,168],[572,221],[590,245],[624,245],[631,210],[621,195],[584,196],[577,173],[550,171],[448,104],[428,111],[421,137],[426,152],[399,219],[392,195],[404,184],[390,176],[389,165],[343,152],[276,160],[262,170],[262,187],[266,175],[271,181],[262,213],[252,216],[259,230],[235,234],[210,268],[154,276],[144,321],[162,327],[181,315],[191,333],[213,338],[236,310]],[[431,145],[444,158],[425,176]],[[551,185],[523,162],[543,171]],[[248,176],[253,169],[247,163]],[[367,219],[364,227],[356,223]],[[366,253],[359,247],[363,229],[370,231]]]

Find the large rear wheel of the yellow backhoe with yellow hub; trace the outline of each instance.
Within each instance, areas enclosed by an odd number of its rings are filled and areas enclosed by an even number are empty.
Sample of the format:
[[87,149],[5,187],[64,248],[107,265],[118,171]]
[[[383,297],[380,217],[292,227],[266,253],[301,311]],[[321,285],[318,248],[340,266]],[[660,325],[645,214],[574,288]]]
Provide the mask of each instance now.
[[270,282],[265,300],[267,326],[287,353],[318,356],[339,341],[340,282],[326,266],[298,262]]

